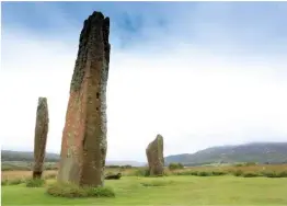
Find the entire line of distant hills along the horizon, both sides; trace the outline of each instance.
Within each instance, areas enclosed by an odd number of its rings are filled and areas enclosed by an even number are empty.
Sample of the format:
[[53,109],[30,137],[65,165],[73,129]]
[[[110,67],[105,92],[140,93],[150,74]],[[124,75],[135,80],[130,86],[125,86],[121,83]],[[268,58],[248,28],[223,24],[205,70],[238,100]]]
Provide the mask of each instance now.
[[[26,161],[34,159],[31,151],[1,150],[3,161]],[[236,163],[236,162],[257,162],[257,163],[287,163],[287,142],[256,142],[238,146],[211,147],[195,153],[182,153],[168,156],[164,158],[165,164],[181,162],[185,165],[200,165],[209,163]],[[46,153],[46,162],[58,162],[59,154]],[[137,161],[106,161],[107,165],[133,167],[145,165],[145,162]]]

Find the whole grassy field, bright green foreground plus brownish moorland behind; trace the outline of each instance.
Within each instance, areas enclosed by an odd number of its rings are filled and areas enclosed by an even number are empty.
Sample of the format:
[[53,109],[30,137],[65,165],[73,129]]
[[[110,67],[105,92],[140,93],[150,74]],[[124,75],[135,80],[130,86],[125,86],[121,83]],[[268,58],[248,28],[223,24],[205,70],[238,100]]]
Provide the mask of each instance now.
[[[38,188],[28,188],[23,183],[31,178],[31,171],[2,171],[2,182],[8,182],[2,186],[2,205],[287,205],[286,164],[167,169],[164,178],[145,178],[142,171],[145,168],[107,168],[106,173],[124,175],[120,180],[105,181],[116,197],[73,199],[46,193],[56,181],[55,170],[44,172],[46,185]],[[256,175],[237,175],[238,171]],[[263,176],[265,173],[284,175]]]

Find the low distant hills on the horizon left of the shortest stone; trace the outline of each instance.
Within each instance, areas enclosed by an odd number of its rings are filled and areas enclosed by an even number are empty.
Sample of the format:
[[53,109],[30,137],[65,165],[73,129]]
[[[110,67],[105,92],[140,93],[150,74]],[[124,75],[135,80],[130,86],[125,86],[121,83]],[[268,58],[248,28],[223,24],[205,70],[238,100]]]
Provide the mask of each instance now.
[[[23,162],[33,162],[34,153],[32,151],[11,151],[11,150],[1,150],[1,161],[23,161]],[[46,153],[46,162],[58,162],[58,153]],[[106,165],[133,165],[133,167],[142,167],[145,162],[137,161],[106,161]]]

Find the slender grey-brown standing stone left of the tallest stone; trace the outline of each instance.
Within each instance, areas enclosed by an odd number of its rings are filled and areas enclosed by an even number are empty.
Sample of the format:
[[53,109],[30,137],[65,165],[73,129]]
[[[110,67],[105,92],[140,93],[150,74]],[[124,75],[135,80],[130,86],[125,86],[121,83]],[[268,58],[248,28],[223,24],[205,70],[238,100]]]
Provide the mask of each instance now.
[[48,104],[46,98],[38,98],[35,140],[34,140],[34,167],[33,179],[41,179],[46,152],[48,135]]

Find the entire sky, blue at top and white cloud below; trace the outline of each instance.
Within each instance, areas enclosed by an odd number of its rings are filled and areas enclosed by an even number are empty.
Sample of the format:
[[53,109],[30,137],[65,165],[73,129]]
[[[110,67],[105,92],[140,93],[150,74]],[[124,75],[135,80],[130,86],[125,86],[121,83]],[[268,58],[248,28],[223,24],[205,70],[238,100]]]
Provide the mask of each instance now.
[[32,151],[38,96],[60,152],[83,21],[111,19],[107,160],[287,141],[287,2],[2,2],[0,138]]

